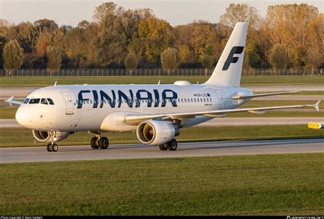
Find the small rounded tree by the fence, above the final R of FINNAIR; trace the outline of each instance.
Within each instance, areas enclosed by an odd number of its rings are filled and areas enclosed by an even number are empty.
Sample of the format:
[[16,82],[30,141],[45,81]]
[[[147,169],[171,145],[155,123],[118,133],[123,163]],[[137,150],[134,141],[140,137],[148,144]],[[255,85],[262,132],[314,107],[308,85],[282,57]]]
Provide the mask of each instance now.
[[170,70],[178,68],[180,64],[180,55],[178,50],[167,48],[161,53],[161,64],[164,70],[170,75]]

